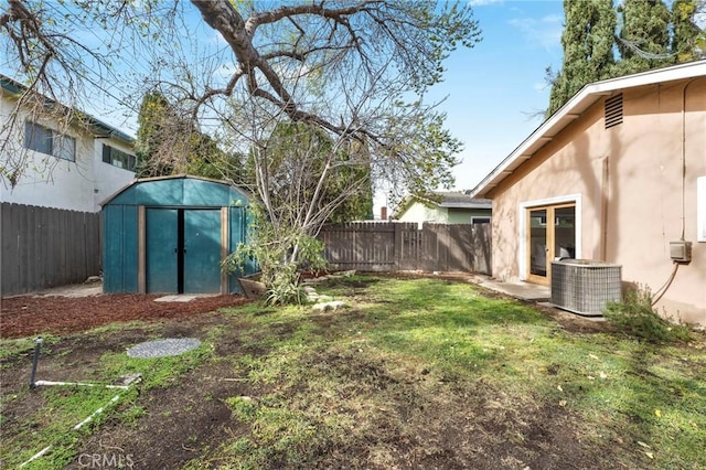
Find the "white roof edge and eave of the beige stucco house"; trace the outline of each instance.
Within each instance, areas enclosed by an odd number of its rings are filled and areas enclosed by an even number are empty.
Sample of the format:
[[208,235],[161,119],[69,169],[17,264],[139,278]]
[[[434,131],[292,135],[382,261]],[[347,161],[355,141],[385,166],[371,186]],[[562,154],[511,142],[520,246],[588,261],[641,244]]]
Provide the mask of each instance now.
[[584,111],[603,96],[610,96],[628,88],[702,76],[706,76],[706,60],[595,82],[584,86],[471,190],[470,195],[473,197],[488,196],[493,188],[534,157],[539,149],[550,142],[564,128],[579,118]]

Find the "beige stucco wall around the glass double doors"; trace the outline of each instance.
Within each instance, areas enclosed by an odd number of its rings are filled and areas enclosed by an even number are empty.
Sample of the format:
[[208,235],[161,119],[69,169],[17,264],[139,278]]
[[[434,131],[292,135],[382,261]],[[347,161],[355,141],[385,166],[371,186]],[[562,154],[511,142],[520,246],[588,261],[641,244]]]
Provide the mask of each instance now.
[[625,90],[623,122],[611,129],[601,99],[489,194],[493,276],[525,276],[524,206],[575,200],[577,257],[620,264],[623,281],[653,292],[668,281],[668,244],[684,232],[692,261],[678,266],[657,309],[706,324],[706,243],[696,241],[696,179],[704,175],[706,78]]

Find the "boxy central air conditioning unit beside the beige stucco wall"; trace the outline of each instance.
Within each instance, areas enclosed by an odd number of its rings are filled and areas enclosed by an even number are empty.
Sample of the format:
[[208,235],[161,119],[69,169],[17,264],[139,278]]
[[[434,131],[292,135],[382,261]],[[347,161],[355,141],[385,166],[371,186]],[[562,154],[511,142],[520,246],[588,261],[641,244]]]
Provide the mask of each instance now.
[[589,259],[552,263],[552,303],[584,316],[601,316],[621,299],[621,266]]

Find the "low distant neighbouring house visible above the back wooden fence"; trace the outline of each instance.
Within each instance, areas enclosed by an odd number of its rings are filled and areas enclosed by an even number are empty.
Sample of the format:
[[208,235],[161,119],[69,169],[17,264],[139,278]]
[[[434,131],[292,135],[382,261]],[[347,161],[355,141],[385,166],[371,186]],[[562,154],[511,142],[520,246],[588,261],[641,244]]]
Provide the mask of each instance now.
[[458,192],[435,192],[431,197],[406,196],[392,214],[399,222],[483,224],[491,220],[492,201]]

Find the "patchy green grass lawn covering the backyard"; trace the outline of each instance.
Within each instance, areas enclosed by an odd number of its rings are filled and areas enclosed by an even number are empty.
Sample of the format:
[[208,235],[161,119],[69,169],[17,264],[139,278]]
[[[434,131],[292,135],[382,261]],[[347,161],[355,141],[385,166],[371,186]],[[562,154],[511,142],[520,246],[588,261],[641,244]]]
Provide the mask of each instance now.
[[[186,463],[191,469],[385,468],[403,457],[415,467],[425,455],[443,456],[449,436],[475,436],[489,449],[502,441],[522,448],[542,425],[533,419],[544,418],[587,446],[599,467],[706,468],[703,335],[687,345],[608,329],[570,332],[527,303],[442,279],[356,276],[317,290],[349,307],[233,308],[200,349],[158,360],[104,354],[98,377],[141,372],[145,395],[205,363],[227,367],[240,392],[208,400],[229,409],[231,436],[210,442]],[[213,344],[234,324],[237,352],[216,357]],[[32,348],[0,345],[0,356]],[[60,429],[109,399],[74,392],[42,391],[43,406],[24,435],[3,442],[2,459],[19,463],[51,442],[61,451],[34,468],[69,462],[81,435]],[[114,416],[126,426],[160,418],[145,416],[137,396],[124,403]],[[62,424],[45,431],[55,413]]]

